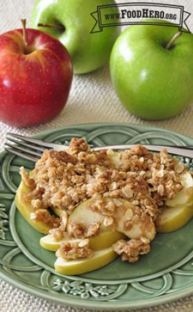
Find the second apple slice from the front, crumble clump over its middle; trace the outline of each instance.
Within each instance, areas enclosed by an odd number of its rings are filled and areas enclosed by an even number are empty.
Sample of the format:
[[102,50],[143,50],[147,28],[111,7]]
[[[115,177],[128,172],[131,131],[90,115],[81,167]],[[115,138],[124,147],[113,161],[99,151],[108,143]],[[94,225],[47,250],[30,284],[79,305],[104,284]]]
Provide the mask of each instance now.
[[[125,235],[119,232],[102,232],[98,236],[91,237],[89,239],[89,245],[92,250],[102,250],[111,247],[119,239],[125,239]],[[62,241],[55,241],[52,235],[48,234],[40,239],[40,245],[50,251],[56,251],[60,247],[61,243],[66,241],[80,241],[80,239],[68,239],[64,238]]]

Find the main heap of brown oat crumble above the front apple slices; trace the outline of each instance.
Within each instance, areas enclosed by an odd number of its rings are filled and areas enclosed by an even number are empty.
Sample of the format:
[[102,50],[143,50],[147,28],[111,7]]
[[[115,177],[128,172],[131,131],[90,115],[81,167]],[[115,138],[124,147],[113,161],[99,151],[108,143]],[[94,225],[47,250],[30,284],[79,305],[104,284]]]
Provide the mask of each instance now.
[[[40,197],[42,208],[56,207],[67,214],[83,200],[102,195],[138,202],[154,217],[163,201],[182,189],[180,174],[185,166],[167,150],[159,154],[143,146],[124,150],[119,154],[120,168],[108,154],[92,152],[83,139],[72,139],[67,151],[45,150],[33,178],[24,168],[21,177],[33,189],[34,198]],[[109,205],[104,211],[113,209],[113,203]]]

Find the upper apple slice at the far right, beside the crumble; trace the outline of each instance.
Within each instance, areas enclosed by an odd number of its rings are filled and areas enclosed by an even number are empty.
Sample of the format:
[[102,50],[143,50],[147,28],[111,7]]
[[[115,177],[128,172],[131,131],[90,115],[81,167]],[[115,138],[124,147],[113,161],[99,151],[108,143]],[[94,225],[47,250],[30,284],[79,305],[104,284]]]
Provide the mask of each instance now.
[[189,172],[181,175],[181,184],[183,189],[172,200],[166,200],[165,205],[169,207],[176,207],[179,205],[193,204],[193,179]]

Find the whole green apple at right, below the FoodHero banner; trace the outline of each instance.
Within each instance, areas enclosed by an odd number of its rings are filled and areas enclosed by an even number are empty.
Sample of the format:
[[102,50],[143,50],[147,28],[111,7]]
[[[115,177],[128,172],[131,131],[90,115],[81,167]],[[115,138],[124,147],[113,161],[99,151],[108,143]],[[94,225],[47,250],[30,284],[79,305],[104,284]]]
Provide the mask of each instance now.
[[142,119],[179,114],[193,100],[193,35],[170,26],[136,25],[116,40],[110,59],[111,81],[123,106]]

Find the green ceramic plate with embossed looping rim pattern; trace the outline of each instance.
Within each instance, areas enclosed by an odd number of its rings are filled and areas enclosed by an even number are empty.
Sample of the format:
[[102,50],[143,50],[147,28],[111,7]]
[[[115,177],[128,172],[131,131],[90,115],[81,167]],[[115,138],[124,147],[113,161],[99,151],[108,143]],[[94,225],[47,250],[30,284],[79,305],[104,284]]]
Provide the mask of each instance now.
[[[85,137],[89,144],[192,145],[193,139],[167,130],[127,123],[90,123],[42,132],[39,139],[64,143]],[[193,168],[192,159],[184,159]],[[0,277],[10,284],[59,304],[82,309],[123,310],[163,304],[193,293],[193,220],[177,232],[158,234],[151,252],[137,263],[116,259],[93,272],[66,277],[53,269],[55,254],[39,246],[41,234],[14,205],[19,166],[33,163],[0,155]]]

